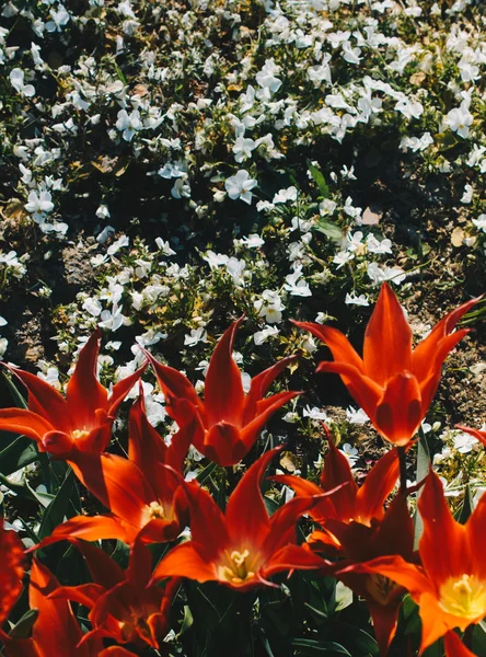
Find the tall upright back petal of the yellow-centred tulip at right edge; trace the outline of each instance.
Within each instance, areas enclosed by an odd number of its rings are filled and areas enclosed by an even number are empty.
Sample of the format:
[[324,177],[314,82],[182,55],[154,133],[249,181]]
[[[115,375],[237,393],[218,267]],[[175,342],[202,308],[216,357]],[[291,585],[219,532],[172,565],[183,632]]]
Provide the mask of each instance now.
[[440,587],[449,577],[472,573],[466,526],[452,517],[443,486],[433,471],[427,476],[418,510],[424,521],[419,552],[428,577]]

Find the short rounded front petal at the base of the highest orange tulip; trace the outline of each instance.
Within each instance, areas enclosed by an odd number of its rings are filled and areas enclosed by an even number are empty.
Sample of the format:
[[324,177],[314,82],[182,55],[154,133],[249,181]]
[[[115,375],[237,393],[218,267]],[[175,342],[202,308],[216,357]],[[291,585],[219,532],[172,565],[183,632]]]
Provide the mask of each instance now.
[[383,438],[404,447],[415,436],[426,412],[417,379],[403,371],[386,381],[383,396],[370,419]]

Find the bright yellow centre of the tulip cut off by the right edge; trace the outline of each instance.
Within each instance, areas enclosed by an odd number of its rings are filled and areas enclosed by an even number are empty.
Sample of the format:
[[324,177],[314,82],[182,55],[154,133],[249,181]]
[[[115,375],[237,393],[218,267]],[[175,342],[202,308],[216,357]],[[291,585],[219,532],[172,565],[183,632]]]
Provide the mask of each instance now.
[[486,580],[474,575],[450,577],[440,587],[439,604],[447,612],[471,621],[486,614]]

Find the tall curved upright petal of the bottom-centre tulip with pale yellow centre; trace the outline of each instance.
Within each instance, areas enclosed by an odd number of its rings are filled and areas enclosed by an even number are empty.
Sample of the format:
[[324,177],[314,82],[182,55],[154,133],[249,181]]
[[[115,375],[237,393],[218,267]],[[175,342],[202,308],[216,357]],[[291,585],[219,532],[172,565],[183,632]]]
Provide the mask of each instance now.
[[[281,451],[277,447],[265,452],[243,475],[228,500],[225,519],[234,544],[248,542],[255,549],[264,542],[270,521],[261,492],[263,475],[271,459]],[[251,509],[251,512],[247,512]]]

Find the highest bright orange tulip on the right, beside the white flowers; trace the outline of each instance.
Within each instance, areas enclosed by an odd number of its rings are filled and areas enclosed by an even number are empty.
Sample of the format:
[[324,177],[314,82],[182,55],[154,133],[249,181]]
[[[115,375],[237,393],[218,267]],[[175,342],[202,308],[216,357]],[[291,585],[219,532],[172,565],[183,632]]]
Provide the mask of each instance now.
[[412,330],[390,286],[382,285],[364,333],[363,357],[336,328],[296,322],[331,349],[334,362],[320,372],[336,372],[383,438],[404,447],[414,437],[436,393],[447,355],[468,333],[451,333],[476,303],[472,299],[447,314],[415,349]]

